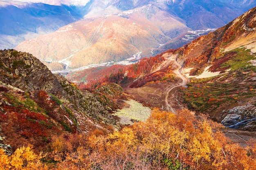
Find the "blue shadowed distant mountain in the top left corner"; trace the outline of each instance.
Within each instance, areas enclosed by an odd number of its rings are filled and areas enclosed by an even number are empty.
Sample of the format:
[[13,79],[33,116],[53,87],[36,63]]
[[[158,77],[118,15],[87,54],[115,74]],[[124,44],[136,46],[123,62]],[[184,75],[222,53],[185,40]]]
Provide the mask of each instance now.
[[0,49],[13,48],[77,20],[81,16],[68,6],[43,3],[0,6]]

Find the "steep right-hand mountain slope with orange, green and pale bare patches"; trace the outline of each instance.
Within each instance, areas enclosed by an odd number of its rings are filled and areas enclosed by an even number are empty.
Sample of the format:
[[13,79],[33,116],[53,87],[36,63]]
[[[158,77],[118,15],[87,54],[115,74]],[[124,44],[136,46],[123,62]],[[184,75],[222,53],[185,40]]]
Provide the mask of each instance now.
[[226,126],[245,130],[255,129],[255,13],[253,8],[184,46],[180,57],[190,68],[187,77],[197,78],[182,90],[183,102]]

